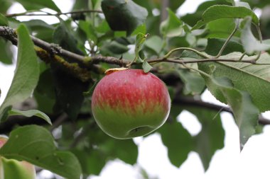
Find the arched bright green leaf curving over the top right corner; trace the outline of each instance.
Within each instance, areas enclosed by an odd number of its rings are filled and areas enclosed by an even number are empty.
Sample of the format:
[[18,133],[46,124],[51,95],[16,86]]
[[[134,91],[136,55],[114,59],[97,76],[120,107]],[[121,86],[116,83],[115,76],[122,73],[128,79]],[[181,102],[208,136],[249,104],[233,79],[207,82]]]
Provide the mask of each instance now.
[[202,25],[220,18],[245,18],[247,16],[251,16],[252,22],[259,25],[259,18],[249,8],[226,5],[211,6],[202,14],[202,21],[198,21],[192,30],[198,29],[202,27]]

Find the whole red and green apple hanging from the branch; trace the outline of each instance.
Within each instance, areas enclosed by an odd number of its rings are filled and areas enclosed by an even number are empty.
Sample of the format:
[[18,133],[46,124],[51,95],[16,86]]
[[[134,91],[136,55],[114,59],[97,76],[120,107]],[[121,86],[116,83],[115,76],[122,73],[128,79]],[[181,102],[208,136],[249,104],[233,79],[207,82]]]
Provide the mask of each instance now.
[[97,83],[92,94],[97,125],[116,139],[143,136],[161,127],[171,108],[163,81],[141,69],[112,71]]

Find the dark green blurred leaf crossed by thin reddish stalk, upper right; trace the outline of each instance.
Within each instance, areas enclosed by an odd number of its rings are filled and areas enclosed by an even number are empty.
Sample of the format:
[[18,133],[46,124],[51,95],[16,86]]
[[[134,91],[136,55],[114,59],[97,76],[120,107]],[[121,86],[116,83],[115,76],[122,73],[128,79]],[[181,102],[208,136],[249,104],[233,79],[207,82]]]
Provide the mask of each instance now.
[[[209,38],[207,39],[207,46],[205,52],[212,56],[215,56],[220,52],[221,47],[225,43],[225,39],[220,38]],[[222,55],[229,54],[232,52],[244,52],[242,45],[239,42],[234,40],[229,40],[225,50],[222,52]]]

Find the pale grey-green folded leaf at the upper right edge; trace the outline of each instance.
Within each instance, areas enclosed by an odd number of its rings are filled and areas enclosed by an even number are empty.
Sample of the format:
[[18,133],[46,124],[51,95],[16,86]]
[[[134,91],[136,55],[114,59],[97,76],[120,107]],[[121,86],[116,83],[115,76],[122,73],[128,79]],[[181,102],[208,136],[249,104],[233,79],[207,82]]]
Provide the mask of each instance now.
[[257,40],[252,34],[252,19],[250,17],[247,17],[244,19],[243,23],[244,29],[242,30],[241,34],[241,41],[247,54],[270,50],[270,45],[259,42],[259,40]]

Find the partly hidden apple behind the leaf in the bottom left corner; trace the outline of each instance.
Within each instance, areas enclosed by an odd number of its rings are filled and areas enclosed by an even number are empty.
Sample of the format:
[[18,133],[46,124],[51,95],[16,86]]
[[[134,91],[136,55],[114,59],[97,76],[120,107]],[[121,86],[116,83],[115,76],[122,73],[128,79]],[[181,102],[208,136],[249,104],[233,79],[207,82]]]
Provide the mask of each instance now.
[[[0,148],[7,137],[0,136]],[[35,179],[35,167],[26,161],[16,161],[0,156],[0,179]]]

